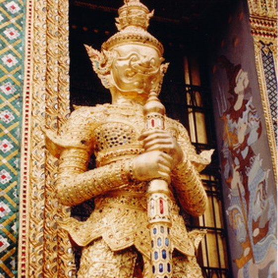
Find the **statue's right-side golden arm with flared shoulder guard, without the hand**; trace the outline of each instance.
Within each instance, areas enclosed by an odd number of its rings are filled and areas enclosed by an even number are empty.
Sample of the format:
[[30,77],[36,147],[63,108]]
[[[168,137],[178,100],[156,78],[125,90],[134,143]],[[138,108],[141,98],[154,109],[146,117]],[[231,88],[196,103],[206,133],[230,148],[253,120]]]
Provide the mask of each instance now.
[[172,171],[172,183],[182,208],[193,216],[200,216],[206,210],[208,197],[199,171],[209,164],[212,151],[198,155],[186,129],[181,124],[177,128],[177,141],[184,158]]

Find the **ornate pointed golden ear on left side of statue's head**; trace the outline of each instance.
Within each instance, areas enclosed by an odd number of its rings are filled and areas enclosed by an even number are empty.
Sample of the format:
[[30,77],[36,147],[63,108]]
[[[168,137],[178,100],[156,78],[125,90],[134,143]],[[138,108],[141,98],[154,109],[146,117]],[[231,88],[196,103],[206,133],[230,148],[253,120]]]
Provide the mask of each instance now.
[[114,58],[116,57],[114,51],[103,50],[99,52],[98,50],[92,48],[91,46],[85,45],[88,56],[91,60],[93,70],[100,78],[101,83],[105,88],[111,87],[111,76],[110,71]]

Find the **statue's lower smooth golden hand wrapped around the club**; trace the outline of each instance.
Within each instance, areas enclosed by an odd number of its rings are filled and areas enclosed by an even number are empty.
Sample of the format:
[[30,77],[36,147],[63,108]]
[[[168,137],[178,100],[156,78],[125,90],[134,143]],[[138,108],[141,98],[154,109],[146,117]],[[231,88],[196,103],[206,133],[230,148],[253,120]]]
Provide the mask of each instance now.
[[138,181],[162,179],[170,182],[173,158],[163,151],[152,150],[138,155],[132,162],[133,177]]

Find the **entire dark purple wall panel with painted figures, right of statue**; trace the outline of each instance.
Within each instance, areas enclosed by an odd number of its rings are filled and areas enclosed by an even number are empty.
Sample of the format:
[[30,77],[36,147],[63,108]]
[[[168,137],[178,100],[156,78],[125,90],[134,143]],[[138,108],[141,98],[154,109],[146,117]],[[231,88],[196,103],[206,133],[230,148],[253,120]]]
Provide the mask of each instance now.
[[[210,79],[233,277],[275,277],[275,170],[247,3],[239,1],[212,47]],[[274,62],[271,69],[274,76]]]

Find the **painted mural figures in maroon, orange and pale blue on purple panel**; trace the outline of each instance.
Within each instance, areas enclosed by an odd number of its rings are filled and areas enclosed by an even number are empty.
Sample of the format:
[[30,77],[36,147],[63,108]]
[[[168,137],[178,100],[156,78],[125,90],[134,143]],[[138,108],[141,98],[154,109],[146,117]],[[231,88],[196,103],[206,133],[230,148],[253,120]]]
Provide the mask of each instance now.
[[[224,131],[221,167],[228,186],[226,213],[239,252],[234,256],[238,278],[273,278],[276,273],[276,208],[269,194],[270,169],[264,169],[255,143],[262,136],[262,120],[252,100],[248,72],[219,58],[226,72],[227,98],[217,98]],[[235,275],[235,274],[234,274]]]

